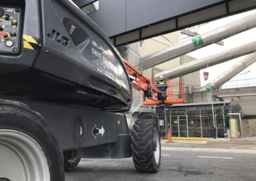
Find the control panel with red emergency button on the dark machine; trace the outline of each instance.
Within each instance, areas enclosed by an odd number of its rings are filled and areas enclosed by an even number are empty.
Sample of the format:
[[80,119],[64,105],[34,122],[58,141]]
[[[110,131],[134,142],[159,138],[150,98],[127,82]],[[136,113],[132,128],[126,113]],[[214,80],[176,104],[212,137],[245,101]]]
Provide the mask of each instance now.
[[0,54],[20,51],[21,8],[0,6]]

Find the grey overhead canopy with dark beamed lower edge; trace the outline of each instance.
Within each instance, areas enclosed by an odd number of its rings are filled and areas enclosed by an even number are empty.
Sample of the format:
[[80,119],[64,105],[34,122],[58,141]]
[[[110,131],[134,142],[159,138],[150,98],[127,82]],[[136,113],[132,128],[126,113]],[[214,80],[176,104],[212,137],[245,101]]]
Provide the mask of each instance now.
[[[256,8],[255,0],[100,0],[99,3],[99,11],[89,17],[116,46]],[[82,6],[81,1],[77,5]]]

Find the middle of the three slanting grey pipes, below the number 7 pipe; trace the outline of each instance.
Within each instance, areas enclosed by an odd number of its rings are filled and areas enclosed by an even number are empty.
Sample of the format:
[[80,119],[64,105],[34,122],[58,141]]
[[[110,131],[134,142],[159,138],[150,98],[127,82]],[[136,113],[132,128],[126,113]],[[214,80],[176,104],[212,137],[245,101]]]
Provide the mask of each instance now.
[[161,75],[168,78],[176,78],[178,76],[186,75],[188,73],[192,73],[209,66],[214,66],[216,64],[220,64],[222,62],[226,62],[243,55],[251,54],[253,52],[256,52],[256,41],[246,43],[240,47],[232,48],[219,54],[204,57],[196,61],[191,61],[172,69],[161,71],[155,75],[155,78]]

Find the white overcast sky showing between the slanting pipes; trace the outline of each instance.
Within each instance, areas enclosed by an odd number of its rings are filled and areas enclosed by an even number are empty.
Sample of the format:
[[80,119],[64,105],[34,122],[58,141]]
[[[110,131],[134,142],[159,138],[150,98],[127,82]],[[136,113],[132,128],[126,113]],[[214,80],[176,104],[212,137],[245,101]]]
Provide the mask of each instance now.
[[[256,10],[248,11],[246,13],[241,13],[238,15],[234,15],[232,17],[222,18],[220,20],[215,20],[215,21],[209,22],[209,24],[200,26],[200,28],[198,29],[198,33],[202,34],[207,31],[211,31],[212,29],[215,29],[216,27],[220,27],[222,25],[228,24],[229,22],[233,22],[241,17],[250,15],[252,13],[256,13]],[[185,38],[185,37],[186,36],[184,36],[184,35],[181,36],[181,38]],[[219,52],[223,52],[230,48],[239,47],[240,45],[243,45],[243,44],[246,44],[246,43],[249,43],[252,41],[256,41],[256,28],[250,29],[243,33],[239,33],[239,34],[232,36],[230,38],[227,38],[223,41],[224,41],[224,46],[213,44],[213,45],[209,45],[207,47],[201,48],[199,50],[196,50],[194,52],[191,52],[188,55],[191,57],[195,57],[196,59],[201,59],[203,57],[207,57],[212,54],[218,54]],[[230,66],[236,64],[236,62],[241,59],[243,59],[243,57],[239,57],[237,59],[233,59],[232,61],[224,62],[224,63],[218,64],[216,66],[202,69],[200,71],[202,85],[205,85],[206,83],[211,82],[211,80],[214,80],[214,78],[219,76],[226,69],[228,69]],[[207,81],[204,80],[204,76],[203,76],[204,71],[209,72],[209,79]],[[245,70],[243,70],[239,74],[242,74],[246,71],[250,71],[250,78],[252,78],[252,76],[253,76],[253,78],[256,78],[256,62],[254,64],[252,64],[251,66],[249,66],[248,68],[246,68]]]

